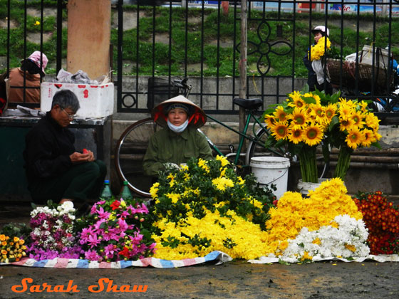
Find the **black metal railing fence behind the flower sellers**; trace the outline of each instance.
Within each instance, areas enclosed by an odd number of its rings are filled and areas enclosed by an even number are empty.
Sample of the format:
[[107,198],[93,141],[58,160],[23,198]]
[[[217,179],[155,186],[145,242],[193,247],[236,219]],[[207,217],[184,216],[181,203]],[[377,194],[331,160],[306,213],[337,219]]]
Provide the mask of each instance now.
[[[129,5],[132,2],[137,5]],[[239,94],[240,63],[248,65],[247,97],[263,98],[265,106],[279,103],[287,93],[304,85],[300,78],[306,78],[307,73],[301,59],[313,43],[311,29],[316,25],[331,31],[336,56],[331,57],[328,67],[330,73],[334,72],[330,75],[336,75],[333,83],[337,90],[349,97],[378,98],[387,97],[394,88],[390,61],[380,70],[379,56],[372,55],[368,81],[364,81],[361,56],[351,64],[349,75],[345,58],[361,53],[363,46],[370,46],[370,53],[387,48],[389,58],[399,54],[397,0],[250,0],[247,61],[239,61],[240,1],[151,1],[151,6],[142,2],[112,1],[118,112],[147,112],[148,79],[160,76],[168,80],[189,77],[190,98],[195,103],[209,113],[235,114],[232,99]],[[53,64],[48,73],[58,73],[66,57],[67,29],[62,28],[66,1],[0,3],[0,14],[6,20],[1,23],[1,68],[8,71],[18,67],[21,59],[38,50]],[[44,14],[48,8],[56,11],[51,20]],[[30,9],[38,15],[32,17]],[[33,25],[35,20],[37,26]],[[53,26],[48,26],[51,22]],[[29,38],[30,33],[38,34],[35,41]],[[52,36],[45,41],[48,33]],[[16,36],[23,38],[16,41]],[[364,90],[363,82],[369,83],[370,90]]]

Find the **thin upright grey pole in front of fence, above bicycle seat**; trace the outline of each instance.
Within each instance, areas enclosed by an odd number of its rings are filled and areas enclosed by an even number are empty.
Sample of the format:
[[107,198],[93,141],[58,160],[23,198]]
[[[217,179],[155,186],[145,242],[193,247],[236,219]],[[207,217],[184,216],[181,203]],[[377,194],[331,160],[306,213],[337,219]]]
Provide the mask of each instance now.
[[[241,1],[241,41],[239,56],[239,98],[247,98],[247,0]],[[245,110],[239,107],[239,130],[245,125]]]

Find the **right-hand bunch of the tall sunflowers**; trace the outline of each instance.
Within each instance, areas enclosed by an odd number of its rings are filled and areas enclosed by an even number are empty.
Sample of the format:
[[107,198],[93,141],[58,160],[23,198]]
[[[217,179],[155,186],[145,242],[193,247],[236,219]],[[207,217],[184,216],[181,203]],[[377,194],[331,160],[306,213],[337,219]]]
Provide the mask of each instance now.
[[370,147],[378,142],[379,122],[372,112],[368,111],[366,102],[356,102],[341,98],[338,103],[338,117],[342,132],[347,132],[346,145],[356,150],[357,147]]

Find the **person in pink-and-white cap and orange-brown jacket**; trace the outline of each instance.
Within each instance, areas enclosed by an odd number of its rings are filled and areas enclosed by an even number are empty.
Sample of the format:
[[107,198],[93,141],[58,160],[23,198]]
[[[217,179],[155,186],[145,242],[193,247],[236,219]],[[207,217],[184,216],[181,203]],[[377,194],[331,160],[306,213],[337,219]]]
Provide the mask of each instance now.
[[[11,68],[0,79],[1,98],[6,98],[6,85],[4,80],[9,80],[10,103],[40,103],[40,83],[44,77],[44,69],[48,63],[47,56],[35,51],[28,58],[21,61],[20,68]],[[25,86],[25,93],[24,93]]]

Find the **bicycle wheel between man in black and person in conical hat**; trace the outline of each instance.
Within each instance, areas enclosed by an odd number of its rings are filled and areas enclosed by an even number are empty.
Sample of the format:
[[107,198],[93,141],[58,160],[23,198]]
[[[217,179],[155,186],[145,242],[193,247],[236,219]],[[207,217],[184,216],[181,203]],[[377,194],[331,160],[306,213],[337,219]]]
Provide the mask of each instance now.
[[129,188],[140,196],[150,196],[152,177],[144,174],[142,160],[150,137],[160,128],[151,118],[139,120],[123,132],[116,145],[115,167],[118,175],[128,181]]

